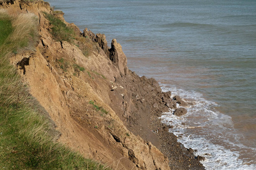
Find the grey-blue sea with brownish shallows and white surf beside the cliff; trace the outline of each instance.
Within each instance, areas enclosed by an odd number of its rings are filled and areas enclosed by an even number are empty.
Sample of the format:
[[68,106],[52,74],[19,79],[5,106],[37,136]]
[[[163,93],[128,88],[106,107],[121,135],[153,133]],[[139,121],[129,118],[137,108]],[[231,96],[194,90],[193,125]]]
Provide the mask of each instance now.
[[81,31],[117,39],[130,70],[193,103],[161,119],[207,169],[256,169],[255,0],[48,2]]

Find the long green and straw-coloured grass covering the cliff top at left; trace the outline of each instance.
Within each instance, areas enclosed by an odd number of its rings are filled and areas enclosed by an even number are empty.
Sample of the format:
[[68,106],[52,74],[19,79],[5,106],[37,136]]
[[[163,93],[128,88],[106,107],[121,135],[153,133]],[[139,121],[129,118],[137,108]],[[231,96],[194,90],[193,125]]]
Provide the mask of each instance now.
[[108,169],[56,142],[46,111],[10,64],[14,49],[33,48],[36,23],[32,14],[0,11],[0,169]]

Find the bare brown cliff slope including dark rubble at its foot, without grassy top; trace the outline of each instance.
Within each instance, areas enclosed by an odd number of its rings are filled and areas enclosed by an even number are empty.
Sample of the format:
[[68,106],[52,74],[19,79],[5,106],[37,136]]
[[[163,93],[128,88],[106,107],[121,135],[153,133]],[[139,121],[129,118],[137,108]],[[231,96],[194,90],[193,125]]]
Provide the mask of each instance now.
[[129,70],[115,39],[109,48],[104,35],[80,32],[47,2],[0,5],[9,15],[37,16],[35,49],[13,54],[10,62],[55,122],[59,142],[113,169],[203,168],[158,119],[176,108],[171,92]]

